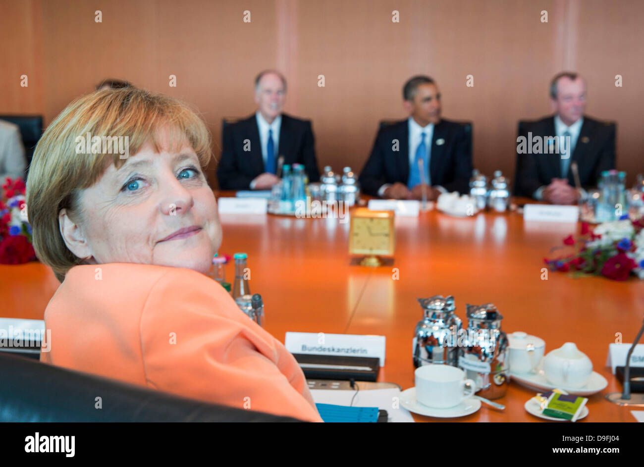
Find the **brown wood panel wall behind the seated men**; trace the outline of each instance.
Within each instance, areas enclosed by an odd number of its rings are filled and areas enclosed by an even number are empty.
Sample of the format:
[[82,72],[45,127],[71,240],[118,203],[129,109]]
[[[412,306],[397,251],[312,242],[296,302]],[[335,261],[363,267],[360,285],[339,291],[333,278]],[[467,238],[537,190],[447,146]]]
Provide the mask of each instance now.
[[[278,68],[285,111],[313,121],[319,166],[359,170],[378,121],[405,117],[404,81],[426,73],[444,117],[474,123],[475,167],[513,177],[516,122],[550,113],[549,80],[566,69],[587,79],[587,113],[618,123],[618,167],[630,182],[644,172],[638,0],[0,0],[0,9],[0,113],[48,123],[104,77],[128,79],[197,108],[218,157],[222,118],[252,113],[254,76]],[[214,185],[214,164],[209,176]]]

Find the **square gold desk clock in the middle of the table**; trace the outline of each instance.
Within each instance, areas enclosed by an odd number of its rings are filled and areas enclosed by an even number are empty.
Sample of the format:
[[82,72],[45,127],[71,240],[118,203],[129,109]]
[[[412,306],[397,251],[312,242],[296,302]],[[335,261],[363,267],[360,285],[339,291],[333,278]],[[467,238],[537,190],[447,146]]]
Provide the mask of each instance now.
[[393,211],[370,211],[358,207],[351,213],[349,254],[365,256],[363,266],[382,263],[378,256],[393,256]]

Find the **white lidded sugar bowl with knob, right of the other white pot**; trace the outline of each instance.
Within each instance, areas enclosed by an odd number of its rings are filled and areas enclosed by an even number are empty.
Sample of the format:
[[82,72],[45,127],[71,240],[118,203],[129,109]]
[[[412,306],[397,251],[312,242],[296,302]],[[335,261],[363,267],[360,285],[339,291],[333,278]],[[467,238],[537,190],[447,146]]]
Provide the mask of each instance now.
[[582,388],[592,374],[592,362],[573,342],[549,352],[544,358],[545,378],[559,388]]

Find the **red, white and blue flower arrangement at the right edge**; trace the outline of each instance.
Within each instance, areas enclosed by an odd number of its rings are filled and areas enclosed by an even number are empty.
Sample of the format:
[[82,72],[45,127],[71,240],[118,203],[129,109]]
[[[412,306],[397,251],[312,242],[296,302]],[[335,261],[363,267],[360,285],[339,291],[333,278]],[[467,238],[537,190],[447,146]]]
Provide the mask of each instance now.
[[[644,218],[630,220],[624,215],[594,229],[584,222],[580,236],[567,236],[564,245],[572,247],[574,253],[544,258],[554,271],[601,275],[618,281],[627,280],[633,273],[644,279]],[[554,249],[558,248],[562,247]]]

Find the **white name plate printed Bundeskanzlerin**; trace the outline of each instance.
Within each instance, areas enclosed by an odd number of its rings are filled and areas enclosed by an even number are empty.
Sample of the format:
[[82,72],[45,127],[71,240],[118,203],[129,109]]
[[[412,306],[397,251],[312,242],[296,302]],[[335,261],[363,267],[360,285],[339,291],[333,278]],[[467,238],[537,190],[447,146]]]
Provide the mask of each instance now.
[[284,346],[292,354],[378,357],[380,366],[384,367],[384,336],[287,332]]

